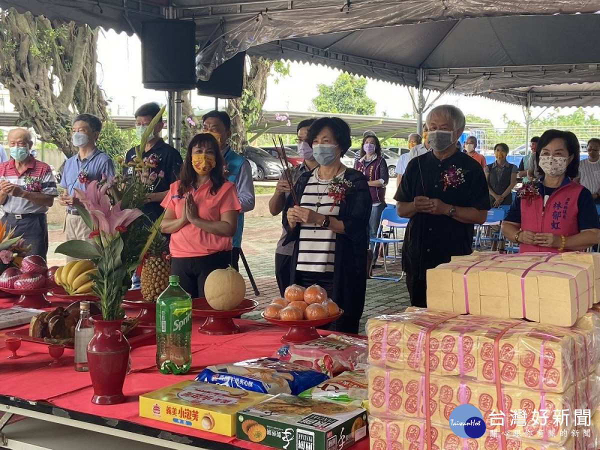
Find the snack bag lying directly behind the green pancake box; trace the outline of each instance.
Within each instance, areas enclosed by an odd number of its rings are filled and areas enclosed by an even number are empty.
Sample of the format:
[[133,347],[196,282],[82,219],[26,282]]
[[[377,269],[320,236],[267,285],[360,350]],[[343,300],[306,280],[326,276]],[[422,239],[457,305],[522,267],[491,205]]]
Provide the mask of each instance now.
[[367,409],[367,388],[367,374],[347,371],[301,392],[300,397],[341,401]]

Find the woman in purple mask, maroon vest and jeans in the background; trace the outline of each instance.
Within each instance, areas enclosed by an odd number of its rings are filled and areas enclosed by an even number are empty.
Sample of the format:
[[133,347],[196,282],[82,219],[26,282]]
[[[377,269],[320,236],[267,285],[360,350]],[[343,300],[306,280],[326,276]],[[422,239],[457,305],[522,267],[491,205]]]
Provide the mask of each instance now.
[[[389,181],[388,164],[381,154],[381,144],[377,136],[366,136],[362,139],[361,157],[356,161],[356,170],[364,173],[367,177],[369,191],[371,193],[371,216],[369,218],[369,236],[377,236],[379,221],[383,209],[385,209],[385,187]],[[370,244],[373,254],[373,263],[377,260],[376,246]]]

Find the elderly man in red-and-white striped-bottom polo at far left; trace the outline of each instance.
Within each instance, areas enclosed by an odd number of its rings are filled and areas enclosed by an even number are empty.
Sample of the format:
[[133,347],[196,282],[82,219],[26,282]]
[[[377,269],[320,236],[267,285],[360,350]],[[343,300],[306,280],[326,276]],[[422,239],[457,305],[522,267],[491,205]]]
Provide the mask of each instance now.
[[16,236],[23,236],[26,244],[31,244],[28,254],[46,259],[46,212],[58,191],[50,166],[31,156],[32,145],[28,130],[15,128],[8,132],[11,159],[0,164],[0,204],[5,213],[2,223],[14,228]]

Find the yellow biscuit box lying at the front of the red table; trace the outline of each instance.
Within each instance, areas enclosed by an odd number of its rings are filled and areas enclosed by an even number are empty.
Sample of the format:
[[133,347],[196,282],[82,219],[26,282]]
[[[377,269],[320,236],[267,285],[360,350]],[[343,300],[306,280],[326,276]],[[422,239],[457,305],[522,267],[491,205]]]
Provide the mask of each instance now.
[[235,436],[235,414],[271,395],[182,381],[140,395],[140,416],[209,433]]

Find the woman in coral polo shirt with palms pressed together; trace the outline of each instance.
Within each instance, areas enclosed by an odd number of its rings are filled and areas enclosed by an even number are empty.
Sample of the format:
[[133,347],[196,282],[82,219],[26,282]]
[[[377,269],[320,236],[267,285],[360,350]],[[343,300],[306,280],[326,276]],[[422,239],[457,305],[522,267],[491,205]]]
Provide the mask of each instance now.
[[223,155],[211,133],[188,145],[179,181],[161,206],[161,232],[171,233],[171,274],[192,298],[204,296],[206,277],[231,264],[232,236],[241,211],[235,185],[225,179]]

